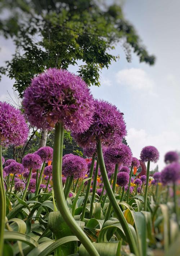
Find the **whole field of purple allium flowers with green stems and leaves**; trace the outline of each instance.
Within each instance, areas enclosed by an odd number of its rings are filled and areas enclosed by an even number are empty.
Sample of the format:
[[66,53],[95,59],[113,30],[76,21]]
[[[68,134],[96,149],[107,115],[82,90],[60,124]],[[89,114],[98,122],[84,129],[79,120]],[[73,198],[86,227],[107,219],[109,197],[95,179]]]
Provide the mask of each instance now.
[[[21,110],[0,102],[0,256],[180,255],[179,153],[152,174],[158,149],[133,155],[125,119],[57,68],[32,79]],[[53,130],[52,147],[4,159],[4,148],[26,142],[28,124]],[[64,129],[83,156],[63,155]]]

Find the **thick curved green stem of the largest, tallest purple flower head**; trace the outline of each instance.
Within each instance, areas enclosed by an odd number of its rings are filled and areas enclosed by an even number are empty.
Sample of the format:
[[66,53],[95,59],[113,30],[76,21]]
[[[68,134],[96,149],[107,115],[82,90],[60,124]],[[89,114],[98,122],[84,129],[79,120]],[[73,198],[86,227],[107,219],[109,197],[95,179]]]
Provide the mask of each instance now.
[[72,232],[81,241],[84,247],[87,249],[91,256],[99,256],[93,243],[82,231],[81,227],[77,225],[77,222],[72,217],[66,204],[66,200],[63,193],[62,184],[62,156],[63,156],[63,135],[64,127],[61,123],[55,125],[54,134],[54,150],[53,150],[53,189],[58,205],[58,209],[62,214],[64,221],[67,223]]

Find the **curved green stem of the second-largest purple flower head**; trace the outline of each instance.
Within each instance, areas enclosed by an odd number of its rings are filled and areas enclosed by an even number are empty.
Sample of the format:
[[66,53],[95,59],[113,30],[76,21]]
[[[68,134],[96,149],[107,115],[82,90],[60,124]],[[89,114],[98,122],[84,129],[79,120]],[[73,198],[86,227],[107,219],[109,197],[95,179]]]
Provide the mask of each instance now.
[[114,208],[114,211],[116,212],[116,215],[121,223],[122,229],[125,232],[125,235],[127,237],[127,241],[129,243],[130,251],[134,253],[135,255],[139,255],[138,247],[136,246],[135,239],[131,233],[131,230],[128,226],[128,223],[124,217],[124,214],[121,211],[120,206],[118,205],[116,198],[114,196],[114,193],[111,189],[111,185],[109,184],[108,175],[105,169],[104,159],[103,159],[103,152],[102,152],[102,146],[100,139],[97,142],[97,153],[98,153],[98,159],[99,159],[99,166],[101,170],[101,174],[103,177],[103,182],[105,185],[105,189],[107,191],[109,200],[112,203],[112,206]]

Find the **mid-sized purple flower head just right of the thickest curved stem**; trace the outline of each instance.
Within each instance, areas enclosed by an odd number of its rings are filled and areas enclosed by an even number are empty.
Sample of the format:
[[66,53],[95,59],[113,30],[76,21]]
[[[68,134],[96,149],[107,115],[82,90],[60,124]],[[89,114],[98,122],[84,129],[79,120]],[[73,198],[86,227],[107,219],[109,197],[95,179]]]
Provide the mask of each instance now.
[[87,173],[87,163],[78,155],[67,154],[63,157],[62,174],[67,178],[74,176],[75,179],[84,178]]

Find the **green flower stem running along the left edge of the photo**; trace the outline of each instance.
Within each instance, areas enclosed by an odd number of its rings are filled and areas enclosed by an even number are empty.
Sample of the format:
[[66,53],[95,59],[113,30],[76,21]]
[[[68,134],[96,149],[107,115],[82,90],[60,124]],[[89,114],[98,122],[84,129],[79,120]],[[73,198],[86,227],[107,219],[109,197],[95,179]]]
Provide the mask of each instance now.
[[3,161],[2,161],[2,146],[0,139],[0,256],[3,256],[4,247],[4,228],[6,216],[6,194],[3,180]]

